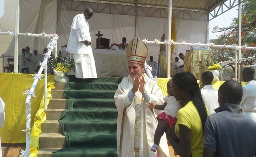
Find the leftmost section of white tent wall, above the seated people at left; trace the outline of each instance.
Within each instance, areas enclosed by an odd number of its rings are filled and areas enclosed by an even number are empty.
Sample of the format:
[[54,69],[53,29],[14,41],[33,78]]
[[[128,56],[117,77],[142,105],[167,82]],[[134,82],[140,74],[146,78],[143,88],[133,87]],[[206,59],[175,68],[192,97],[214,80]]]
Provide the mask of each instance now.
[[[27,11],[29,10],[29,11]],[[57,0],[22,0],[20,1],[20,33],[51,34],[56,32]],[[47,38],[30,38],[19,35],[19,54],[21,49],[29,46],[31,53],[34,49],[43,52],[47,46]],[[14,38],[5,55],[14,55]]]

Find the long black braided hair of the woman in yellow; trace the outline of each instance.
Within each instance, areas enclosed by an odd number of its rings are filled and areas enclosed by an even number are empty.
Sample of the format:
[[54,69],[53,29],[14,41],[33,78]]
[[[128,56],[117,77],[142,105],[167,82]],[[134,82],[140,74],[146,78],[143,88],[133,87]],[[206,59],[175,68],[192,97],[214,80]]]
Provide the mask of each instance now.
[[174,75],[172,78],[176,85],[181,88],[187,90],[191,94],[192,101],[194,103],[195,108],[198,110],[203,132],[205,131],[205,121],[207,119],[207,111],[205,107],[205,103],[201,96],[201,90],[197,83],[195,76],[189,72],[180,72]]

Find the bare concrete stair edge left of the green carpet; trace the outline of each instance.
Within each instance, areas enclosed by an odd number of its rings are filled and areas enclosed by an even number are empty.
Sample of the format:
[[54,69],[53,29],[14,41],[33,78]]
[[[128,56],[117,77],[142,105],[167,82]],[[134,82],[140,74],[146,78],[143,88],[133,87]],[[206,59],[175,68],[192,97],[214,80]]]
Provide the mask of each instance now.
[[38,157],[51,157],[52,152],[65,145],[65,136],[58,122],[63,110],[68,108],[63,94],[65,86],[65,82],[55,82],[55,89],[51,91],[52,99],[45,110],[47,120],[42,124],[42,133],[39,135]]

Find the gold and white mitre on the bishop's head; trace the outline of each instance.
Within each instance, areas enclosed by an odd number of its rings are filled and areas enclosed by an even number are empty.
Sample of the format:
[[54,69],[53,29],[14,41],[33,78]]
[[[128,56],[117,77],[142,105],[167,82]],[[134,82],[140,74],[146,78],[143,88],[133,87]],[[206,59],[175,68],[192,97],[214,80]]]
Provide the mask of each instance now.
[[128,63],[132,62],[144,65],[147,54],[148,49],[146,44],[137,37],[130,41],[126,49],[126,58]]

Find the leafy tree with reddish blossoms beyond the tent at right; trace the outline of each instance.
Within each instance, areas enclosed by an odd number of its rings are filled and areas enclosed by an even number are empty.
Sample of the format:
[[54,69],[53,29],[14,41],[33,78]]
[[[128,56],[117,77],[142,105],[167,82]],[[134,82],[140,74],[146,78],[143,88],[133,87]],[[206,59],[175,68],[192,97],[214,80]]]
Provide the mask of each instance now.
[[[229,27],[217,27],[213,28],[214,32],[223,32],[217,39],[212,39],[210,42],[218,45],[238,45],[238,18],[232,20],[232,24]],[[242,29],[241,29],[241,43],[247,46],[256,46],[256,0],[246,0],[242,3]],[[235,53],[232,49],[227,48],[213,48],[212,53],[216,56],[218,62],[234,60]],[[253,57],[256,51],[243,50],[241,51],[242,58]],[[243,61],[243,64],[250,64],[251,60]],[[232,67],[235,72],[235,64],[229,63],[224,65],[224,68]]]

